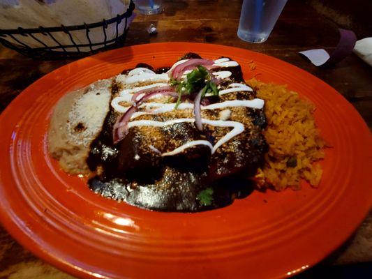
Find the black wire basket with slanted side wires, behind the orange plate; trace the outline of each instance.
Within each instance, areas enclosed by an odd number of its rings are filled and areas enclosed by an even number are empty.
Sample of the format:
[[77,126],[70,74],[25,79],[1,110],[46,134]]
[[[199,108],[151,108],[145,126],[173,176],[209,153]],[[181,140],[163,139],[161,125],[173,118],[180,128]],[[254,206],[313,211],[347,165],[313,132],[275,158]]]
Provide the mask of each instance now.
[[[30,56],[33,59],[67,59],[88,56],[101,50],[108,50],[115,47],[121,47],[126,40],[130,17],[133,14],[135,4],[131,0],[128,9],[125,13],[117,15],[110,20],[102,20],[90,24],[82,24],[75,26],[60,27],[38,27],[31,29],[0,29],[0,43],[5,47],[16,50],[21,54]],[[107,39],[107,28],[111,27],[114,32],[113,38]],[[92,42],[89,33],[94,31],[102,32],[102,40]],[[74,32],[84,32],[86,43],[75,43],[73,38]],[[70,44],[63,45],[57,37],[61,38],[61,33],[68,36]],[[28,37],[28,41],[32,40],[39,45],[35,47],[28,45],[22,40],[22,37]]]

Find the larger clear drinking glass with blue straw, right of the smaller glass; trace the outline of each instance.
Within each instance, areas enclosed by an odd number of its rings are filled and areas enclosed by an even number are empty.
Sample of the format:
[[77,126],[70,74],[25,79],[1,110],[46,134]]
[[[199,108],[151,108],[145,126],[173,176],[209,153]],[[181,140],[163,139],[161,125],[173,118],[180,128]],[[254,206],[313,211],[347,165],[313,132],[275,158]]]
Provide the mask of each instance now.
[[241,6],[238,37],[249,43],[269,38],[287,0],[244,0]]

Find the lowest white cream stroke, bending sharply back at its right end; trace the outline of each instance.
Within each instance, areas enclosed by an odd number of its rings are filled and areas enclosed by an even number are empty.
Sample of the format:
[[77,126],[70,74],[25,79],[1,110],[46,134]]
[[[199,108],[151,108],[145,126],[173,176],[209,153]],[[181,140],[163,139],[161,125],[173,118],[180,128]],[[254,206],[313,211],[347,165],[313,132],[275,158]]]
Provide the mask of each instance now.
[[[129,122],[128,123],[128,128],[132,128],[132,127],[135,127],[135,126],[163,127],[163,126],[173,125],[173,124],[176,124],[176,123],[184,123],[184,122],[193,123],[193,122],[195,122],[195,119],[180,118],[180,119],[173,119],[173,120],[165,121],[165,122],[154,121],[154,120],[138,120],[138,121]],[[183,145],[177,147],[177,149],[174,149],[173,151],[162,153],[161,156],[172,156],[172,155],[175,155],[177,153],[181,153],[185,149],[188,149],[191,146],[195,146],[195,145],[209,146],[209,148],[211,149],[211,153],[213,154],[218,149],[218,147],[220,147],[222,144],[224,144],[225,142],[228,142],[229,140],[232,139],[232,137],[235,137],[235,136],[239,135],[240,133],[242,133],[244,131],[244,125],[240,122],[237,122],[237,121],[222,121],[222,120],[202,119],[202,123],[207,124],[207,125],[211,125],[211,126],[217,126],[217,127],[232,127],[233,129],[230,130],[229,133],[227,133],[226,135],[221,137],[221,139],[218,140],[218,142],[216,142],[216,144],[214,144],[214,146],[212,146],[211,143],[208,142],[207,140],[193,140],[191,142],[187,142],[186,144],[183,144]]]

